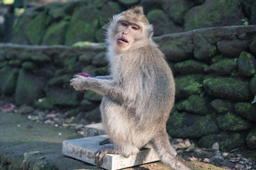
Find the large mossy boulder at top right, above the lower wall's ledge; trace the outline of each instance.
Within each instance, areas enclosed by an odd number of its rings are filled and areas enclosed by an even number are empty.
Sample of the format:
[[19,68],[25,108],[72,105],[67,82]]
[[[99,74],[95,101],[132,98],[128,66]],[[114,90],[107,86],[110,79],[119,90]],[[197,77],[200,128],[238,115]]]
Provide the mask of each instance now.
[[[195,6],[184,17],[185,30],[208,28],[215,26],[242,25],[241,18],[245,18],[240,10],[241,0],[234,1],[206,1]],[[214,13],[214,15],[213,15]]]

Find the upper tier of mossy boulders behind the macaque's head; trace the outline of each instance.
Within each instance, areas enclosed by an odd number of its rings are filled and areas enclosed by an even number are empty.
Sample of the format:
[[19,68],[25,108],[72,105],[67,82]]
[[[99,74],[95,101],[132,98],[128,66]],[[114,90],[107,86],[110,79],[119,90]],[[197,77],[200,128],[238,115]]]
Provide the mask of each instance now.
[[113,14],[134,5],[154,25],[154,36],[196,28],[256,24],[253,0],[79,0],[28,8],[16,18],[11,42],[29,45],[73,45],[102,42]]

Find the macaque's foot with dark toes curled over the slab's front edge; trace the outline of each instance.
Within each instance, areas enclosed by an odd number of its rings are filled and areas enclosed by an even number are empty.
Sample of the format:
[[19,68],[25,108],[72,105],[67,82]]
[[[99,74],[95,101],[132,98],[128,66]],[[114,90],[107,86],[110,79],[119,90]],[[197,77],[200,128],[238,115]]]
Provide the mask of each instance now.
[[114,154],[114,144],[105,144],[95,154],[95,164],[102,165],[105,154]]

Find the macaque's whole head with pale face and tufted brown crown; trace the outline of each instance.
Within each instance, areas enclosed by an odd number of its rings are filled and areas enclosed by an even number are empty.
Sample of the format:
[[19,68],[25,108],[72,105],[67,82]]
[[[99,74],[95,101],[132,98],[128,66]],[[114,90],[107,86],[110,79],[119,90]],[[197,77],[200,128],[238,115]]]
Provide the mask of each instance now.
[[115,52],[126,52],[148,45],[152,35],[153,27],[144,16],[142,6],[135,6],[112,18],[107,42]]

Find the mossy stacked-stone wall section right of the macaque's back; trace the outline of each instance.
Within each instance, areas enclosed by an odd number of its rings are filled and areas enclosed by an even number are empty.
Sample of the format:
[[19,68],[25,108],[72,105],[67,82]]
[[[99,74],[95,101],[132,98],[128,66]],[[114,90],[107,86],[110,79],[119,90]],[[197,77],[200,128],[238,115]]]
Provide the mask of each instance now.
[[156,38],[176,81],[173,137],[201,147],[255,148],[256,38],[244,28],[208,28]]

